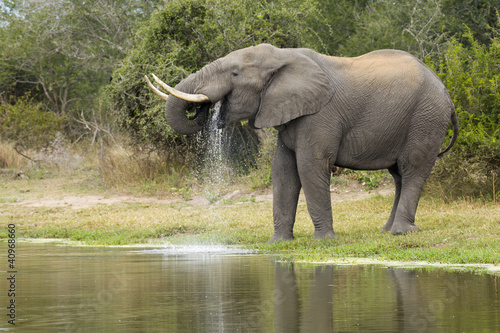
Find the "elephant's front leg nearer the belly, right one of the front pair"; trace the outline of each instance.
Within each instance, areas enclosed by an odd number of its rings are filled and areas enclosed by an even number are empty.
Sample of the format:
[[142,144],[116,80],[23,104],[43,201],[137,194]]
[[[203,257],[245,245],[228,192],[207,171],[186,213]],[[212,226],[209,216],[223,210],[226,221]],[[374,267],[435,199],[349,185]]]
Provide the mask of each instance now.
[[305,158],[298,164],[307,210],[314,224],[314,237],[336,237],[337,234],[333,231],[328,161]]

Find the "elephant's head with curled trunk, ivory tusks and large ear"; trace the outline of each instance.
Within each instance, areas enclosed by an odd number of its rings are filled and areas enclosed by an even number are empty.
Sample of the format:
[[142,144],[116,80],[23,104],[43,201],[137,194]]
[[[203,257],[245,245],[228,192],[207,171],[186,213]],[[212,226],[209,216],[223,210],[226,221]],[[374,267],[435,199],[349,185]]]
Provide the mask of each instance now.
[[[166,100],[165,116],[178,133],[193,134],[203,127],[211,104],[222,103],[219,127],[249,120],[256,128],[283,125],[321,110],[332,98],[330,78],[297,49],[261,44],[220,58],[182,80],[175,88],[156,76],[171,93],[150,88]],[[197,107],[193,117],[186,111]]]

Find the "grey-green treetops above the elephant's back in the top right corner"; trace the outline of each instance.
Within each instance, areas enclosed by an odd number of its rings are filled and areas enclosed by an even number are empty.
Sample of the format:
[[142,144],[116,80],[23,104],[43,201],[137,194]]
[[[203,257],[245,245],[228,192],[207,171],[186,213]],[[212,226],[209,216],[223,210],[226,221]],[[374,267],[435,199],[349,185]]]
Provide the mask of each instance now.
[[[468,39],[462,36],[467,29],[480,44],[489,44],[495,32],[498,33],[500,7],[489,0],[327,3],[316,20],[321,23],[315,30],[332,54],[355,56],[393,48],[423,59],[440,56],[450,38],[466,43]],[[323,20],[322,15],[327,19]],[[328,33],[324,33],[326,26]]]

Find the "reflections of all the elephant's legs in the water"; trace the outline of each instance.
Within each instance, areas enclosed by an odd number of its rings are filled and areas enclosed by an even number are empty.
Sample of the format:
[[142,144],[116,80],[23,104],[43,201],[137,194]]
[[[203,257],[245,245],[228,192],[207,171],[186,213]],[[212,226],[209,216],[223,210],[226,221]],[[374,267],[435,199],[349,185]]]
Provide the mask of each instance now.
[[[397,311],[394,315],[388,314],[387,320],[396,323],[393,328],[400,332],[432,331],[436,318],[420,294],[417,272],[405,269],[389,269],[388,272],[394,283]],[[276,262],[274,331],[333,332],[333,280],[333,266],[315,267],[307,295],[301,298],[294,265]]]

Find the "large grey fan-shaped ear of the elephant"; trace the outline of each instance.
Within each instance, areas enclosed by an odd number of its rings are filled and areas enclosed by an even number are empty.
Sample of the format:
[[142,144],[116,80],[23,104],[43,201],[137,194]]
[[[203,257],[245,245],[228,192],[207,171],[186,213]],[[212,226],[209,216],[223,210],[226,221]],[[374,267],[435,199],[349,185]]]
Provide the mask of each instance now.
[[330,80],[311,58],[280,49],[276,69],[262,91],[255,127],[273,127],[320,111],[334,94]]

